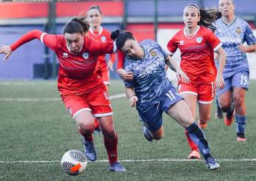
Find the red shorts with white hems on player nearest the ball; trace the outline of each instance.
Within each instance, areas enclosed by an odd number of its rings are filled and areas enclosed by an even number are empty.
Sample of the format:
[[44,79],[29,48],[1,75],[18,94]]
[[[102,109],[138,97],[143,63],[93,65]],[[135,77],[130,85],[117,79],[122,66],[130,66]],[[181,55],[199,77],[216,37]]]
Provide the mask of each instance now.
[[113,115],[109,96],[104,88],[75,95],[61,95],[62,101],[70,115],[75,119],[79,112],[90,111],[94,117]]

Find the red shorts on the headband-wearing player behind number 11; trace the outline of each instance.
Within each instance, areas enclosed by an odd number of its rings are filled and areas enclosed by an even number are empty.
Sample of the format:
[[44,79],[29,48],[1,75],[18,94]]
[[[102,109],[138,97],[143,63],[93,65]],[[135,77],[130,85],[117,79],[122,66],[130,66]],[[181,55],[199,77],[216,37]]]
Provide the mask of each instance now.
[[215,81],[209,83],[178,83],[178,93],[192,94],[198,97],[198,103],[212,103],[215,98]]

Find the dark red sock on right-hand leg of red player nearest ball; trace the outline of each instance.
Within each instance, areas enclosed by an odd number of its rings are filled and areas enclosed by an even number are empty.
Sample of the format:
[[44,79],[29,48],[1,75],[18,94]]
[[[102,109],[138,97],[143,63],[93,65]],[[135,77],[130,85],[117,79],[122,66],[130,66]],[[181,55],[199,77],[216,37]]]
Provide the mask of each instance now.
[[118,133],[115,133],[115,138],[112,140],[104,137],[104,145],[107,149],[110,165],[118,160]]

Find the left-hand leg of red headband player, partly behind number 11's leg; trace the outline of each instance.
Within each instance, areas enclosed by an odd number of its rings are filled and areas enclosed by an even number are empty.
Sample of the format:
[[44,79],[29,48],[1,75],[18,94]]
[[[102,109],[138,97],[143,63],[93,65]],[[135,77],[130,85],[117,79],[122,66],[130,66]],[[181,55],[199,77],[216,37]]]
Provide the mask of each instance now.
[[[190,111],[192,112],[193,120],[195,120],[196,116],[196,103],[198,99],[198,93],[196,86],[188,83],[180,83],[178,85],[178,92],[181,97],[184,98],[185,103],[189,106]],[[186,140],[189,143],[189,148],[191,148],[191,152],[188,156],[188,159],[200,159],[201,156],[198,151],[198,146],[192,141],[191,137],[189,136],[189,132],[185,129]]]

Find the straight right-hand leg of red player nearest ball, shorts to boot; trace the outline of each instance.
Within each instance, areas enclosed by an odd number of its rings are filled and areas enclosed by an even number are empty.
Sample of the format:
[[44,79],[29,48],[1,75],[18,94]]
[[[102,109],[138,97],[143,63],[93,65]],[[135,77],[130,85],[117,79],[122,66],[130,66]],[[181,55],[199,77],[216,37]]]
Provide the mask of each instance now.
[[101,126],[101,132],[104,137],[104,146],[110,163],[110,171],[126,171],[126,169],[118,163],[118,134],[112,117],[112,108],[105,89],[95,91],[90,95],[89,101],[92,108],[92,115],[98,118]]

